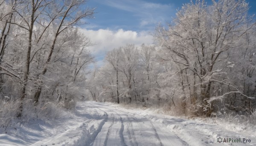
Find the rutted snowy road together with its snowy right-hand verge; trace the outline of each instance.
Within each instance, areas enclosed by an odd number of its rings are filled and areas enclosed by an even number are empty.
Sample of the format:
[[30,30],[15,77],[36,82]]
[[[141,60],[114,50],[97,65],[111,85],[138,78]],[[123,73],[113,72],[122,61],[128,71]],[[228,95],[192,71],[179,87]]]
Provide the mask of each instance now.
[[[86,102],[83,106],[105,115],[105,123],[99,128],[92,146],[216,146],[231,144],[218,143],[218,137],[244,137],[217,124],[160,116],[140,109],[124,109],[115,104]],[[246,138],[252,142],[232,145],[256,145],[255,137]]]

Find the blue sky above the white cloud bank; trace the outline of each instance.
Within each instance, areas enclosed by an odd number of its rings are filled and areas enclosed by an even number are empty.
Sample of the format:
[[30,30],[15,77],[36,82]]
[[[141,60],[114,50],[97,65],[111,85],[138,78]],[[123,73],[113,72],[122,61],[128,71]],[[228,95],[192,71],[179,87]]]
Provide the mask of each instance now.
[[[195,1],[195,0],[194,0]],[[212,0],[205,0],[211,4]],[[247,0],[256,13],[256,0]],[[89,0],[88,6],[97,7],[95,19],[89,20],[87,29],[154,30],[158,22],[170,22],[177,9],[190,0]],[[254,9],[253,9],[254,8]]]

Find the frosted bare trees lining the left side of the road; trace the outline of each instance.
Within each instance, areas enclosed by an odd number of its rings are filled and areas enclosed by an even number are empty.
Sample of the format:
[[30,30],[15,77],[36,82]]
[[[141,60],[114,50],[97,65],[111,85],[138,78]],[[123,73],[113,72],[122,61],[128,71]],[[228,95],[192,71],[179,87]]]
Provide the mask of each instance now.
[[84,0],[0,0],[1,126],[50,103],[69,109],[82,97],[93,56],[77,26],[95,9],[81,6]]

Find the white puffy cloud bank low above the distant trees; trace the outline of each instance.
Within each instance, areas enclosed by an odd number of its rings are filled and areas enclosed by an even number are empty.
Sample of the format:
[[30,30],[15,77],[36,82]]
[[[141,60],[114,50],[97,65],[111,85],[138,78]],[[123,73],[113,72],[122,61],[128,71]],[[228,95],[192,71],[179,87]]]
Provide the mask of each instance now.
[[114,48],[119,48],[126,44],[135,44],[136,46],[140,46],[142,43],[153,43],[153,37],[145,31],[124,31],[123,29],[119,29],[117,31],[109,29],[80,29],[80,31],[89,37],[92,43],[96,44],[91,46],[89,50],[98,60],[98,66],[103,64],[102,60],[105,57],[106,52],[111,51]]

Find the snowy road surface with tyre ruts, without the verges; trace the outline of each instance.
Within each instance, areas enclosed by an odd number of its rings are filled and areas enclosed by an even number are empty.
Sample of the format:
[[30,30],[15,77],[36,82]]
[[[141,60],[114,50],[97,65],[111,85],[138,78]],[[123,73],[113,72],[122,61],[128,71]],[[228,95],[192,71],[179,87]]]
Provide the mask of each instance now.
[[107,113],[107,121],[93,142],[93,146],[186,146],[173,132],[145,117],[135,117],[102,103],[88,105]]

